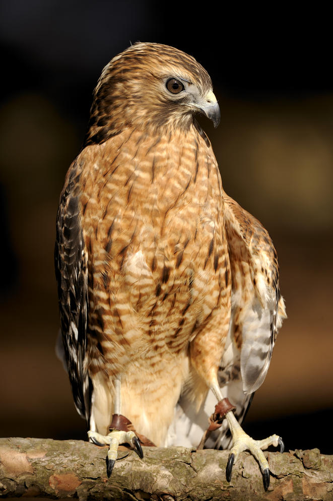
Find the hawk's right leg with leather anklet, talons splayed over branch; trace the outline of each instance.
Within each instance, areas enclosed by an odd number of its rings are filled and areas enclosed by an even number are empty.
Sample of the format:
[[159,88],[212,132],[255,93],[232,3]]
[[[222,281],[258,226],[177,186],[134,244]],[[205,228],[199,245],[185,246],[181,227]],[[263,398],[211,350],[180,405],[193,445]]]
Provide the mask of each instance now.
[[[213,390],[213,388],[212,388]],[[227,463],[226,469],[226,477],[228,482],[231,480],[232,467],[234,463],[237,461],[239,453],[243,451],[250,451],[252,456],[257,460],[261,474],[264,489],[267,490],[270,485],[270,468],[267,459],[265,458],[262,450],[267,449],[269,446],[278,447],[280,446],[280,452],[284,451],[284,444],[281,439],[281,436],[271,435],[267,439],[263,440],[253,440],[240,426],[236,417],[234,416],[233,410],[234,407],[231,406],[228,399],[223,398],[221,390],[218,385],[214,386],[214,393],[219,400],[218,407],[224,407],[225,413],[222,412],[220,416],[217,416],[215,413],[214,418],[216,418],[217,422],[221,422],[223,417],[228,421],[228,425],[230,428],[230,432],[233,440],[233,447],[229,454],[229,459]],[[229,410],[228,410],[229,408]]]

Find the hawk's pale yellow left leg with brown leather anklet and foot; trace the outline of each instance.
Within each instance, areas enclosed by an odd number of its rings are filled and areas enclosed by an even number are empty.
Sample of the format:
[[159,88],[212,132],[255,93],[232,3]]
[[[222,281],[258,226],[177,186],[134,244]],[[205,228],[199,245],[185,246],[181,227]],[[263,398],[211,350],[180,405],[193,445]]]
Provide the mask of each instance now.
[[120,414],[121,408],[121,395],[120,395],[120,378],[115,380],[115,399],[114,399],[114,414],[112,416],[112,421],[109,426],[110,433],[107,435],[101,435],[97,431],[88,431],[89,440],[98,446],[108,445],[109,450],[106,457],[106,473],[109,477],[112,473],[114,464],[118,455],[119,444],[129,444],[133,447],[139,457],[142,459],[144,454],[136,433],[129,429],[131,422]]

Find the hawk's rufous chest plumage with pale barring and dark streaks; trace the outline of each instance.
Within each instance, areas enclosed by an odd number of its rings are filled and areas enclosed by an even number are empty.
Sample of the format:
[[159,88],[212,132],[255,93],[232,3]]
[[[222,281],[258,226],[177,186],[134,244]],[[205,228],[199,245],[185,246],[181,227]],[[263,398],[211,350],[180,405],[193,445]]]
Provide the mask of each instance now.
[[218,309],[227,255],[222,187],[194,126],[181,138],[125,131],[91,150],[80,174],[89,331],[115,372],[162,345],[184,350]]

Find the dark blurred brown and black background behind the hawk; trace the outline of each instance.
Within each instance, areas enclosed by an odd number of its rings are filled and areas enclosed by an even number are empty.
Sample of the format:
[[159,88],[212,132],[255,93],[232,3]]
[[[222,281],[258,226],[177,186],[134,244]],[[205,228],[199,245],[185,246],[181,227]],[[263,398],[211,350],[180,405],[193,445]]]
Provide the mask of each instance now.
[[101,70],[140,40],[210,73],[221,123],[200,120],[224,188],[277,247],[289,318],[245,429],[333,454],[332,41],[328,13],[304,9],[1,2],[0,435],[86,437],[54,353],[55,217]]

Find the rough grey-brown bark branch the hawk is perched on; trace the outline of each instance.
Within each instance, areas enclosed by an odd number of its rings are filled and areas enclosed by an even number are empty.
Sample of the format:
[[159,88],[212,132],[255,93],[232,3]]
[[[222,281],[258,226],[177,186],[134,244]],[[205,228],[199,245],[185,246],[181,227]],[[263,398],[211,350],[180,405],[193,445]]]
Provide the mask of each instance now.
[[333,500],[333,456],[318,449],[268,453],[271,485],[265,492],[255,460],[242,453],[231,482],[227,451],[144,448],[144,459],[121,450],[111,477],[107,449],[82,441],[0,439],[0,497],[173,500]]

